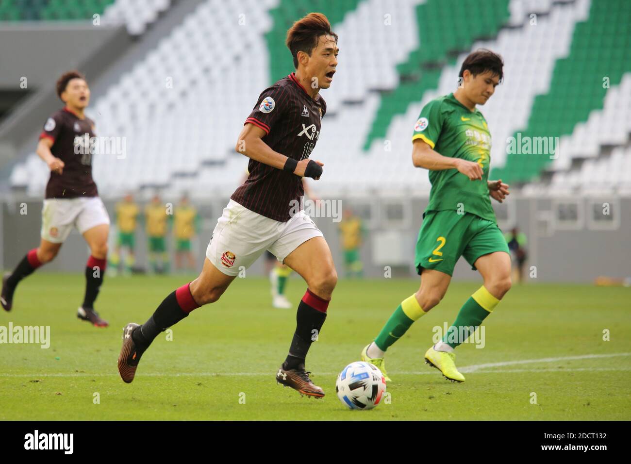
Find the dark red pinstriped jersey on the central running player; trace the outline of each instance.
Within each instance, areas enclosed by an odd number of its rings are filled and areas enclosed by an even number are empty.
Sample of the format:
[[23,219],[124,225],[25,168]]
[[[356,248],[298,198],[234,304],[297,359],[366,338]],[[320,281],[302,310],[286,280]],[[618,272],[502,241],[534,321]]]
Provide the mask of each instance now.
[[[300,161],[314,149],[325,113],[324,98],[311,98],[292,73],[263,90],[245,124],[263,129],[262,141],[274,152]],[[252,159],[248,170],[247,180],[230,198],[262,216],[288,221],[292,207],[300,205],[293,200],[304,195],[302,177]]]

